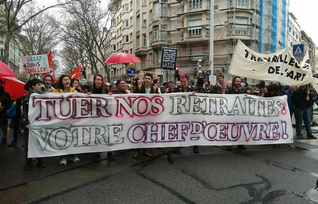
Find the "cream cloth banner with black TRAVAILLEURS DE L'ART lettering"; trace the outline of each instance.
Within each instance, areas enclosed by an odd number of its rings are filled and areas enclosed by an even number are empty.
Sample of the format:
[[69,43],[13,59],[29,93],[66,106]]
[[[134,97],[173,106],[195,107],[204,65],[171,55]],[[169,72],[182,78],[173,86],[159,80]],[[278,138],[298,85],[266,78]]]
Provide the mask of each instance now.
[[280,81],[290,85],[304,85],[313,81],[308,52],[299,65],[287,48],[273,54],[259,54],[239,40],[229,74],[242,76],[242,73],[244,77]]

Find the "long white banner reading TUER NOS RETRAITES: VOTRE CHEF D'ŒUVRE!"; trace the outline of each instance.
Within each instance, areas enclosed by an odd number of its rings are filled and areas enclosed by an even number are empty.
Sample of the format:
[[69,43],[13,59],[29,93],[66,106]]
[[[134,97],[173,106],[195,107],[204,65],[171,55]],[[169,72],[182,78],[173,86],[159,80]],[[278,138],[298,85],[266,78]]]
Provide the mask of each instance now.
[[287,96],[32,94],[28,157],[292,143]]

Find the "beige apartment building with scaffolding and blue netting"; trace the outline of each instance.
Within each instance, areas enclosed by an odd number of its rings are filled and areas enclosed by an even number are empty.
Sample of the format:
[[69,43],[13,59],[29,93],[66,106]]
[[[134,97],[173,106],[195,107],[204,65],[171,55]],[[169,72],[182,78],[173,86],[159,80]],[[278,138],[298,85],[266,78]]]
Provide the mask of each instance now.
[[[160,69],[163,47],[176,48],[179,73],[190,79],[209,69],[210,13],[214,10],[214,62],[211,75],[223,74],[232,79],[228,69],[238,40],[251,49],[272,53],[287,46],[288,3],[286,0],[136,0],[126,1],[114,14],[116,43],[111,50],[139,57],[136,72],[155,73],[166,82],[174,71]],[[283,23],[278,23],[283,22]],[[114,34],[113,34],[114,36]],[[112,54],[112,53],[111,53]],[[197,62],[201,60],[201,69]],[[114,66],[111,79],[125,76],[122,65]],[[253,79],[244,79],[257,83]]]

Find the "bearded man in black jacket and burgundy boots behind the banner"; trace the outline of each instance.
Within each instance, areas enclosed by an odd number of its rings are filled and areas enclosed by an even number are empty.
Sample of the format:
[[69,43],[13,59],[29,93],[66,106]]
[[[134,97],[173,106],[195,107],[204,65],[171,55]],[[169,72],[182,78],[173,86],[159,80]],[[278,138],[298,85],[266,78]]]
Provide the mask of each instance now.
[[[152,79],[153,79],[152,74],[146,73],[143,78],[144,83],[136,87],[134,94],[159,94],[158,89],[151,85]],[[136,152],[133,155],[134,159],[137,159],[139,157],[139,152],[140,152],[140,149],[136,149]],[[152,157],[152,155],[148,153],[147,148],[143,149],[143,155],[145,155],[146,157]]]

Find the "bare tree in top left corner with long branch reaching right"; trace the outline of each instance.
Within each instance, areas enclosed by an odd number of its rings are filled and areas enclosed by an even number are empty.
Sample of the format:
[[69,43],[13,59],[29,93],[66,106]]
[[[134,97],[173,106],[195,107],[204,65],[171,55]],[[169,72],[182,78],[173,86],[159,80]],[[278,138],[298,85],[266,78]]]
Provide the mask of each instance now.
[[12,36],[18,34],[19,30],[26,23],[48,9],[62,7],[73,1],[74,0],[66,0],[65,2],[58,2],[55,5],[38,10],[32,15],[28,15],[27,9],[36,4],[35,0],[0,0],[0,4],[4,6],[3,17],[5,18],[5,24],[2,27],[2,32],[5,37],[3,62],[6,64],[9,63],[9,43],[12,40]]

